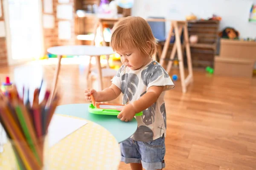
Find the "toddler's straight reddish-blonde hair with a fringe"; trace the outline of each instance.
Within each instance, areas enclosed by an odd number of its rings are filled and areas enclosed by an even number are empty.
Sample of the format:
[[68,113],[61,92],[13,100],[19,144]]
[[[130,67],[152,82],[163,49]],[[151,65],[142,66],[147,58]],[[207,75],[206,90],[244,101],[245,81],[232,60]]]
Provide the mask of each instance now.
[[148,22],[142,17],[129,16],[120,19],[113,27],[110,46],[114,51],[136,47],[140,53],[150,57],[157,52],[157,40]]

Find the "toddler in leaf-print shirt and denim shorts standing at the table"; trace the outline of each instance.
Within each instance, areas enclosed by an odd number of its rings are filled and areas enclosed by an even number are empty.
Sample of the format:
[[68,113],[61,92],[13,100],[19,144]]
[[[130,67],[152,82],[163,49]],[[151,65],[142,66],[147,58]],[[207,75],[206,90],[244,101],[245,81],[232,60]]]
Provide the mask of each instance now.
[[[161,170],[165,167],[166,108],[164,91],[174,84],[164,68],[152,59],[157,42],[151,28],[141,17],[125,17],[119,20],[111,36],[111,47],[121,57],[122,66],[103,91],[85,91],[85,99],[96,102],[116,99],[122,92],[122,104],[117,118],[128,122],[135,113],[138,122],[136,132],[120,143],[122,160],[132,170]],[[125,130],[125,129],[124,129]]]

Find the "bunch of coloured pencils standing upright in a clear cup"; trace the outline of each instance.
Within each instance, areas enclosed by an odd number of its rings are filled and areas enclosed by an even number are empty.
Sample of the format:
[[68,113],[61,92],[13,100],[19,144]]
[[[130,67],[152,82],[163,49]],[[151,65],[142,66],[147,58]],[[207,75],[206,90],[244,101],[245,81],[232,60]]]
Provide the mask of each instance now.
[[56,93],[46,109],[50,91],[46,91],[44,100],[39,103],[42,84],[43,81],[34,91],[32,106],[29,102],[29,89],[25,99],[25,87],[22,97],[15,85],[5,94],[0,91],[0,123],[12,141],[17,168],[20,170],[34,170],[44,166],[44,136],[60,97]]

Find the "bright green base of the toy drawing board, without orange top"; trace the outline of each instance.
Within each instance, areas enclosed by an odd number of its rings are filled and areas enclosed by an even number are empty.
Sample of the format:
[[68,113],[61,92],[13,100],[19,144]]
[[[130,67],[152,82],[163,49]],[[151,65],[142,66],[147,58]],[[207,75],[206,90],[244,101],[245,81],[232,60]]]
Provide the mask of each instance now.
[[[96,108],[93,104],[90,104],[88,107],[88,111],[93,114],[103,114],[103,115],[118,115],[120,111],[116,109],[105,109],[105,108]],[[136,113],[135,116],[142,116],[143,112]]]

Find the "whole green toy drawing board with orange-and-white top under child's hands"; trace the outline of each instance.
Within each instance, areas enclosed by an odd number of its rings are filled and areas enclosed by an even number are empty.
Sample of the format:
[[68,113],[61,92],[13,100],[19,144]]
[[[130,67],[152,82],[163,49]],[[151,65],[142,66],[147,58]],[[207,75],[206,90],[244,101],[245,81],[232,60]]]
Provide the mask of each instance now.
[[[90,104],[88,107],[89,113],[93,114],[102,114],[102,115],[118,115],[120,111],[117,111],[116,108],[122,108],[124,105],[116,104],[106,104],[106,103],[96,103],[95,106]],[[136,113],[135,116],[142,116],[143,112]]]

